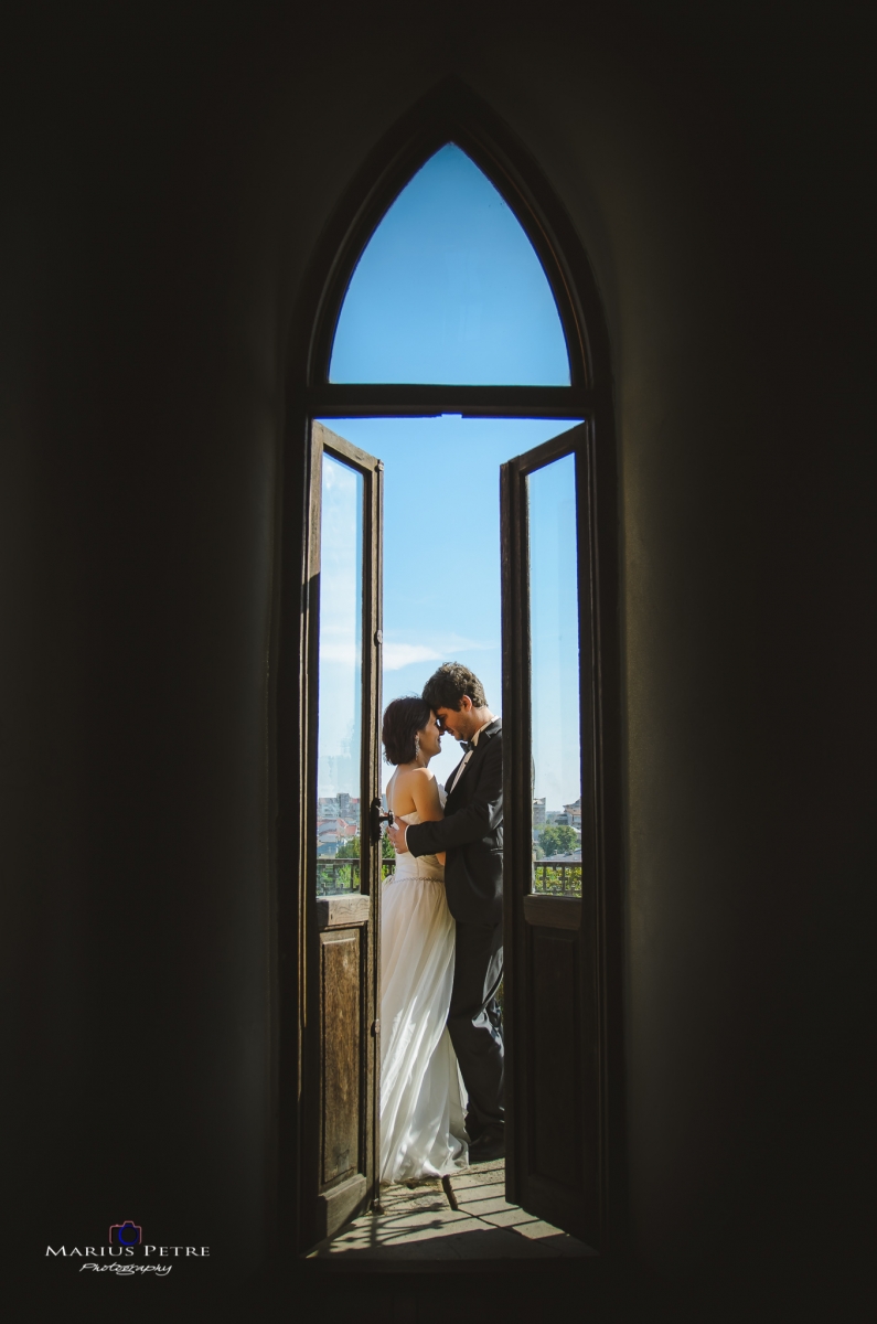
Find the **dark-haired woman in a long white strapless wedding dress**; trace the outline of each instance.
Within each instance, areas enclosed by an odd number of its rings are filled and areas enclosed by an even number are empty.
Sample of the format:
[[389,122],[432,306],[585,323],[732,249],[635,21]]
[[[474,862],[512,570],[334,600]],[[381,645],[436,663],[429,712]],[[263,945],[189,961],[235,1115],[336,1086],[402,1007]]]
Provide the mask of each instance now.
[[[393,699],[382,731],[396,771],[387,806],[403,822],[444,817],[445,793],[429,760],[441,749],[436,714],[419,698]],[[444,1177],[468,1164],[465,1090],[445,1021],[456,924],[445,857],[396,857],[380,920],[380,1180]]]

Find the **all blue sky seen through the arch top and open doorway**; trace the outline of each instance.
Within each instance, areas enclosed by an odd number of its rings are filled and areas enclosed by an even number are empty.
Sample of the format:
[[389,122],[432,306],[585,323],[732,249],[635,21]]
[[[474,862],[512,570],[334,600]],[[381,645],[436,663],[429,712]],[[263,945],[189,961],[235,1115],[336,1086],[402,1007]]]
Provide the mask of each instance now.
[[[563,332],[542,266],[510,209],[458,148],[445,147],[427,163],[366,248],[339,318],[330,376],[568,384]],[[501,714],[499,465],[575,421],[325,420],[331,432],[384,461],[384,706],[420,692],[440,662],[458,661],[476,671],[489,707]],[[544,536],[534,540],[533,593],[543,645],[534,650],[535,682],[566,703],[537,704],[535,793],[547,794],[555,809],[579,794],[578,741],[563,752],[578,727],[570,722],[572,703],[578,714],[578,682],[571,688],[570,675],[578,669],[570,671],[575,658],[560,639],[570,633],[575,602],[568,545],[570,530],[572,539],[575,532],[567,518],[568,474],[546,478],[542,489]],[[334,527],[343,530],[344,519]],[[333,608],[325,600],[323,628],[336,638],[350,636],[351,647],[348,553],[342,552],[334,573],[336,620],[330,624]],[[327,589],[325,579],[325,598]],[[352,780],[351,681],[352,671],[347,675],[336,659],[322,663],[321,794],[347,789],[335,785],[339,776]],[[432,764],[440,781],[458,759],[460,747],[445,736]],[[384,785],[391,772],[384,768]]]

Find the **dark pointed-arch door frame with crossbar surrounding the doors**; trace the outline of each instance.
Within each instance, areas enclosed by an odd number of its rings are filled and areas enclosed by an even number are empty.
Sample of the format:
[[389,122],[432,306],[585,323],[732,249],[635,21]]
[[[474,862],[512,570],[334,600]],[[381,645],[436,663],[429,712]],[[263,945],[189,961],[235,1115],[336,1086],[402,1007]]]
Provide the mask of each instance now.
[[[386,211],[420,166],[457,143],[509,203],[542,261],[570,354],[570,387],[339,385],[329,359],[347,283]],[[306,1169],[303,1071],[307,813],[307,602],[310,433],[317,418],[583,418],[592,437],[595,576],[595,777],[600,915],[600,1092],[603,1254],[627,1243],[621,906],[621,688],[619,637],[617,458],[605,318],[596,282],[547,177],[502,120],[464,83],[440,85],[404,115],[356,172],[309,265],[290,326],[286,429],[278,474],[278,528],[270,639],[269,851],[273,1066],[269,1226],[277,1249],[307,1249],[299,1204]]]

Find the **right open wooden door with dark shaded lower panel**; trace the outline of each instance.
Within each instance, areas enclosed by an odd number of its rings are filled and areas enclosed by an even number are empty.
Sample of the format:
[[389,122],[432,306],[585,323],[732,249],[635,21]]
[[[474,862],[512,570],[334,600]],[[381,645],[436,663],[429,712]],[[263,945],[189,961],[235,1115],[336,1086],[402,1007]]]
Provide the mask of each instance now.
[[[501,470],[506,1193],[599,1249],[601,892],[590,466],[583,424]],[[551,825],[539,821],[546,814],[570,817],[554,826],[572,833],[578,817],[578,863],[542,851],[543,837],[551,845]],[[555,830],[555,846],[563,835]],[[546,858],[537,858],[541,851]]]

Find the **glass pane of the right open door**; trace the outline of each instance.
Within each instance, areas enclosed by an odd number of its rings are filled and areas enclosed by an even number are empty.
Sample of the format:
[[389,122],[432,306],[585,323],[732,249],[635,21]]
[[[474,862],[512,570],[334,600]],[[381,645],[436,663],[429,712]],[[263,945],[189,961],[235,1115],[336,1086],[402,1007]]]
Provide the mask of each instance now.
[[527,477],[533,890],[582,895],[575,455]]

